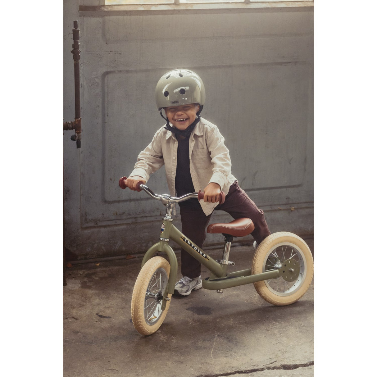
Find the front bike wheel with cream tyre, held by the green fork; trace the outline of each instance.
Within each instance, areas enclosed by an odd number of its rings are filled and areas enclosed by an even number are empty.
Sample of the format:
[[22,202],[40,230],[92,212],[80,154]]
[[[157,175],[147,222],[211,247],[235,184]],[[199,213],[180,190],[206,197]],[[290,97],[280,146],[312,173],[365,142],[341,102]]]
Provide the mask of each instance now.
[[[136,330],[142,335],[155,333],[164,322],[170,300],[161,309],[167,288],[170,264],[163,257],[153,257],[144,264],[133,287],[131,317]],[[171,299],[171,294],[168,298]]]

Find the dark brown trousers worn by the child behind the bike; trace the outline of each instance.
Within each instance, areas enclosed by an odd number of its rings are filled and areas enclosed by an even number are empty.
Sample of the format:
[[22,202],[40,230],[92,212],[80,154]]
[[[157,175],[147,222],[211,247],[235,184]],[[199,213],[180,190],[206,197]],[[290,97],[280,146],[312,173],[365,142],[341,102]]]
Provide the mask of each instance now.
[[[182,233],[199,247],[202,247],[205,240],[207,225],[211,215],[205,216],[199,202],[196,199],[179,204],[182,221]],[[247,217],[255,225],[251,235],[257,244],[260,244],[271,234],[263,211],[247,196],[244,190],[239,187],[238,182],[230,186],[229,192],[223,204],[219,204],[215,210],[228,212],[233,219]],[[192,257],[187,251],[181,249],[181,273],[191,279],[201,274],[201,263]]]

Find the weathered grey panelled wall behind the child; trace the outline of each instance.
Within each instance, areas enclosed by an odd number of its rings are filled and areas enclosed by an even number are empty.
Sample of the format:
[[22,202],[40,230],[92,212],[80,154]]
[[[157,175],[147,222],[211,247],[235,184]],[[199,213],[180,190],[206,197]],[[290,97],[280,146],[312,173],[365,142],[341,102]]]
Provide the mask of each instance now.
[[[232,172],[271,231],[314,233],[313,7],[135,12],[101,3],[63,3],[63,116],[75,116],[78,20],[83,119],[81,149],[72,131],[63,136],[66,247],[86,259],[142,253],[156,242],[164,207],[118,180],[163,125],[155,85],[176,67],[202,77],[202,116],[218,125]],[[164,169],[148,184],[167,192]]]

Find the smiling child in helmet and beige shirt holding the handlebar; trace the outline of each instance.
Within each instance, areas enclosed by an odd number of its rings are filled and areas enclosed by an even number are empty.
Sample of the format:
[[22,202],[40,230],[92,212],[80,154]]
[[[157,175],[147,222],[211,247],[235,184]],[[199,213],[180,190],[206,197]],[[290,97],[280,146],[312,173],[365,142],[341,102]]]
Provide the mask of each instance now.
[[[200,116],[205,101],[201,78],[192,70],[172,70],[158,81],[155,96],[166,125],[140,152],[135,169],[126,180],[127,187],[136,190],[138,181],[146,183],[150,174],[165,164],[172,196],[204,192],[200,202],[189,199],[179,203],[182,233],[202,247],[213,210],[223,210],[234,219],[247,217],[253,221],[255,229],[251,235],[256,248],[271,233],[263,211],[231,174],[229,150],[218,127]],[[221,191],[226,194],[223,204],[218,203]],[[201,264],[182,249],[181,272],[182,278],[175,285],[179,294],[187,296],[202,287]]]

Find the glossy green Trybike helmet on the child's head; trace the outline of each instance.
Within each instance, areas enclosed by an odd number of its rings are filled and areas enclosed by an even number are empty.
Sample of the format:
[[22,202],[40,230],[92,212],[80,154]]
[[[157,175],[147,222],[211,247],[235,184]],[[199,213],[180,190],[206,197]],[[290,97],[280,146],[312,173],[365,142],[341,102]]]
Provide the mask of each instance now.
[[192,70],[174,69],[163,75],[156,85],[156,104],[158,110],[169,106],[181,106],[205,101],[202,79]]

